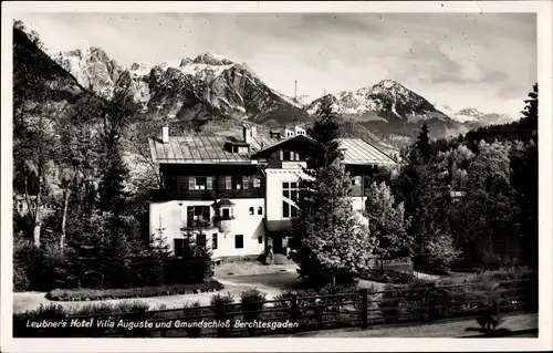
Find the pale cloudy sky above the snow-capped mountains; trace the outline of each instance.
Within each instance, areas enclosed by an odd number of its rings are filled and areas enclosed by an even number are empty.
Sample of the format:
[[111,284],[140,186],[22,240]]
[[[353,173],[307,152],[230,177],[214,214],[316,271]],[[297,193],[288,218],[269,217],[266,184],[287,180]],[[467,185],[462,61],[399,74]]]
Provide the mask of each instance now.
[[319,97],[395,80],[455,111],[519,116],[538,80],[534,13],[20,13],[45,48],[100,46],[123,66],[205,52]]

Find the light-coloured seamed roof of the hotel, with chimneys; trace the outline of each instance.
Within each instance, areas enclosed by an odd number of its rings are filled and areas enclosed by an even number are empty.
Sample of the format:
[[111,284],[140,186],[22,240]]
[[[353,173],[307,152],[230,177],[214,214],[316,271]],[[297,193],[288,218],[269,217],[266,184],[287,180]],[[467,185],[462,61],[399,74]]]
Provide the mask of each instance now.
[[[238,141],[225,136],[170,136],[164,144],[159,138],[149,139],[149,149],[155,163],[171,164],[253,164],[251,154],[274,148],[292,139],[311,138],[298,135],[289,138],[272,138],[267,135],[251,137],[250,154],[231,153],[227,143]],[[394,165],[396,162],[384,152],[362,138],[340,138],[344,163],[348,165]]]

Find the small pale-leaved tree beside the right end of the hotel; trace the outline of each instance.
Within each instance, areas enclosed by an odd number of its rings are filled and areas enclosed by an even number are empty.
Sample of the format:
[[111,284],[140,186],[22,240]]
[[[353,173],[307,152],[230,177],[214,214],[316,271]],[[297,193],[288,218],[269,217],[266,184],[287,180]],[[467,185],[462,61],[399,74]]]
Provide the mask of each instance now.
[[396,205],[389,187],[384,181],[373,183],[365,205],[368,229],[378,241],[378,251],[386,257],[410,255],[413,238],[407,233],[410,219],[405,218],[404,204]]

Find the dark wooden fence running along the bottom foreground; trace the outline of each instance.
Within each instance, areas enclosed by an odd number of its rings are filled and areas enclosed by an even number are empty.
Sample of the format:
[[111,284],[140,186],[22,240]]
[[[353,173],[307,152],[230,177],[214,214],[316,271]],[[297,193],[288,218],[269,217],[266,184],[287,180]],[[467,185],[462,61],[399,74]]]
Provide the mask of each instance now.
[[[501,312],[538,308],[535,280],[498,282]],[[482,283],[427,284],[386,291],[362,289],[332,295],[284,298],[250,303],[231,303],[182,309],[112,313],[95,316],[64,315],[34,321],[65,321],[63,329],[29,329],[15,320],[13,335],[80,338],[232,338],[289,334],[302,331],[376,324],[432,322],[470,318],[484,310],[489,292]],[[25,320],[29,320],[28,318]],[[27,324],[27,326],[25,326]],[[86,325],[88,325],[86,328]]]

